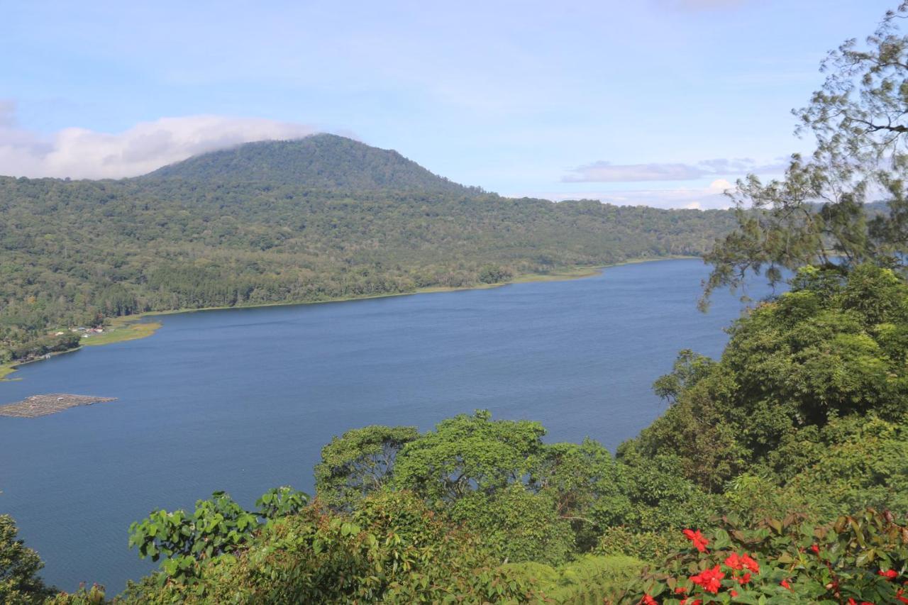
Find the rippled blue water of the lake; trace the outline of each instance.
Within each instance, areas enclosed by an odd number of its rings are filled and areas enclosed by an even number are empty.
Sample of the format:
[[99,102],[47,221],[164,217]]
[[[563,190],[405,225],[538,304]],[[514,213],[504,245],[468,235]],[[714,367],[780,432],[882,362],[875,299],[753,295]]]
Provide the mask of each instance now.
[[0,382],[0,403],[119,398],[0,417],[0,512],[44,558],[45,580],[113,594],[156,566],[126,548],[132,521],[216,490],[247,506],[277,485],[311,491],[321,446],[350,428],[427,430],[485,408],[542,422],[548,441],[614,450],[665,410],[651,384],[679,349],[722,351],[742,305],[722,292],[697,312],[705,276],[700,261],[660,261],[568,282],[165,315],[150,338]]

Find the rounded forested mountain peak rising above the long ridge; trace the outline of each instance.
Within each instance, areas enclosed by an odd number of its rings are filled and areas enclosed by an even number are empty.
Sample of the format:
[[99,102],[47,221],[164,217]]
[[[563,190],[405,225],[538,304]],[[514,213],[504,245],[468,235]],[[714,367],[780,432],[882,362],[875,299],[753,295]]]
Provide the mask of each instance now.
[[293,184],[331,191],[480,193],[452,183],[390,149],[336,134],[262,141],[196,155],[140,177],[207,183]]

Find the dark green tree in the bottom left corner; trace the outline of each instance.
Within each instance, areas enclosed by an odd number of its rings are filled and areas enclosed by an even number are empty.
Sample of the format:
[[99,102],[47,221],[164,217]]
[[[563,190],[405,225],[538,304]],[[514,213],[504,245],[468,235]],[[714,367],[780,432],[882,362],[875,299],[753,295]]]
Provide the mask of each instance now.
[[44,602],[54,592],[38,576],[44,563],[35,550],[16,540],[18,532],[12,517],[0,515],[0,602]]

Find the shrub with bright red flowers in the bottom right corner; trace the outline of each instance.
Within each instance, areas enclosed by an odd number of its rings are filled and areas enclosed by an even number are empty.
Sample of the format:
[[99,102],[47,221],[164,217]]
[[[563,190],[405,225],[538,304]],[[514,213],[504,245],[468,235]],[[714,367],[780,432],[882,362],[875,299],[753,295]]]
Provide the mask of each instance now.
[[706,546],[670,554],[617,602],[902,602],[908,529],[868,510],[816,525],[796,515],[750,529],[725,519]]

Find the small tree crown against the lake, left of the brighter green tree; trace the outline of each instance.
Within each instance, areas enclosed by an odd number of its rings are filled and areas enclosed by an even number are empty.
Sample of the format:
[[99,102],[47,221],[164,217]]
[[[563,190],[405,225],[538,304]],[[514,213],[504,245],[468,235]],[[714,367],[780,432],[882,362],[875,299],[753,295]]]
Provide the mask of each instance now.
[[393,481],[400,448],[418,436],[415,427],[373,425],[335,437],[321,449],[315,466],[319,500],[333,509],[353,509],[371,491]]

